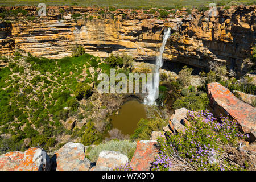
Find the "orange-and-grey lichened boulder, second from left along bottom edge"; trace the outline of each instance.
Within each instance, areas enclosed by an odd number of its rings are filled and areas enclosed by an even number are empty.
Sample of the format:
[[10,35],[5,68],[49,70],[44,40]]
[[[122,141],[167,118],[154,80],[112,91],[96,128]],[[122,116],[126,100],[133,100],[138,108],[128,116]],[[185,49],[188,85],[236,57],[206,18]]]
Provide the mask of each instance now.
[[52,169],[56,171],[88,171],[90,160],[85,158],[85,148],[81,143],[68,142],[51,158]]

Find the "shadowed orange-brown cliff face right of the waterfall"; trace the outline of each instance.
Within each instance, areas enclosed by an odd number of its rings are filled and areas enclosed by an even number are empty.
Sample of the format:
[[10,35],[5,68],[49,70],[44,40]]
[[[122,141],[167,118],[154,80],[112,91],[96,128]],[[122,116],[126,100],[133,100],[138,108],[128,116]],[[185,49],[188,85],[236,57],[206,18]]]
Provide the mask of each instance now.
[[205,11],[188,15],[179,26],[179,34],[170,38],[164,57],[171,61],[209,68],[210,61],[218,61],[231,75],[246,73],[243,60],[250,57],[255,43],[255,6]]

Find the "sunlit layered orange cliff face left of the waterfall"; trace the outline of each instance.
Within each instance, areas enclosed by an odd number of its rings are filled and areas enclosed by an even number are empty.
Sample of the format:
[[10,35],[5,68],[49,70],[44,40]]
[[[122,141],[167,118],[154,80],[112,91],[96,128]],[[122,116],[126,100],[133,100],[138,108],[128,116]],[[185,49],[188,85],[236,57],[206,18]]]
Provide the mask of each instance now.
[[[26,7],[36,16],[34,9]],[[112,52],[127,52],[135,59],[153,59],[158,54],[164,29],[164,21],[156,15],[136,14],[131,10],[117,10],[114,17],[107,15],[98,19],[94,9],[63,7],[61,15],[58,7],[47,7],[47,16],[34,21],[11,21],[2,23],[2,48],[0,53],[10,53],[23,49],[32,55],[48,58],[71,56],[75,44],[84,46],[85,52],[94,56],[108,57]],[[85,13],[92,20],[74,20],[73,13]],[[122,14],[127,14],[122,19]],[[60,17],[62,16],[62,19]],[[18,19],[25,19],[22,16]],[[170,22],[176,24],[176,20]],[[8,43],[7,43],[8,42]]]

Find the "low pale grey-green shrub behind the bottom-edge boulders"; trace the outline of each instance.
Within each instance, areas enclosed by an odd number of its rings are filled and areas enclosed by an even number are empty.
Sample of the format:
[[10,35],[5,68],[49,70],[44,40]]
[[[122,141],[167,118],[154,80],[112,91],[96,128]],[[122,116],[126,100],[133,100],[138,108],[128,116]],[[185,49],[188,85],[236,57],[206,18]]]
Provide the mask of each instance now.
[[117,151],[121,152],[122,154],[126,155],[129,157],[131,160],[133,153],[136,148],[136,143],[135,142],[129,142],[129,140],[110,140],[109,142],[106,143],[101,143],[98,146],[94,147],[89,154],[90,159],[93,162],[96,162],[98,159],[98,155],[100,154],[101,151]]

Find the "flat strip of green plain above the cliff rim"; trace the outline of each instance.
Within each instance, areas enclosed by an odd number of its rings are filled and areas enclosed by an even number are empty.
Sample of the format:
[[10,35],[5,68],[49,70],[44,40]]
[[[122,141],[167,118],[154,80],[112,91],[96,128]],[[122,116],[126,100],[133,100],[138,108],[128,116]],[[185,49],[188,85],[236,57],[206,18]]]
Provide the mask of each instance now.
[[[40,2],[39,0],[13,0],[13,1],[1,1],[1,6],[37,6]],[[237,0],[238,3],[243,3],[245,5],[255,4],[254,0]],[[63,1],[44,1],[47,6],[97,6],[97,7],[108,7],[109,11],[115,11],[116,9],[151,9],[151,7],[161,8],[161,9],[181,9],[181,7],[193,7],[193,6],[207,6],[212,1],[202,0],[202,1],[176,1],[176,0],[160,0],[160,1],[145,1],[145,0],[95,0],[95,1],[86,1],[86,0],[77,0],[73,2],[72,0],[63,0]],[[218,6],[229,5],[230,0],[221,0],[215,2]],[[232,6],[232,5],[229,5]]]

